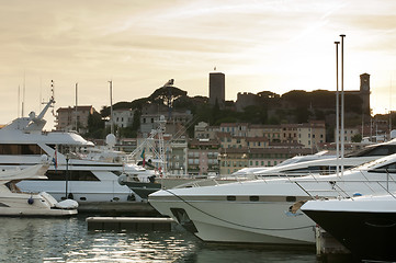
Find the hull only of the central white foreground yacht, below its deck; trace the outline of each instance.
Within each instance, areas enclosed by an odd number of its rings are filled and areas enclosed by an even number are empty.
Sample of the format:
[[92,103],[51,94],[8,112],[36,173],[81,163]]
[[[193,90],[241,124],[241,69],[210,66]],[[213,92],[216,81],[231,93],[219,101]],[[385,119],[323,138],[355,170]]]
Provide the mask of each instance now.
[[[157,192],[158,193],[158,192]],[[302,213],[292,214],[293,203],[227,203],[213,201],[156,201],[162,215],[178,220],[197,238],[210,242],[315,244],[315,224]]]

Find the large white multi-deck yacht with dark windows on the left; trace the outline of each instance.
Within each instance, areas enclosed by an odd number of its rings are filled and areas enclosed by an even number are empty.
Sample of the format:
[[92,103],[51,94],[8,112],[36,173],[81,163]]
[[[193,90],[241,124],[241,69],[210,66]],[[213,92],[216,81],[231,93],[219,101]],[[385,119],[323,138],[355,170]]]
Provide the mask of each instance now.
[[52,98],[38,116],[32,112],[29,117],[16,118],[0,129],[0,169],[34,165],[41,162],[42,155],[47,155],[53,160],[46,172],[48,179],[20,182],[21,190],[45,191],[57,201],[72,197],[79,203],[135,198],[127,186],[118,184],[118,175],[148,171],[120,158],[112,161],[99,158],[103,151],[93,156],[77,153],[81,149],[86,152],[94,149],[92,142],[77,133],[43,132],[44,115],[54,102]]

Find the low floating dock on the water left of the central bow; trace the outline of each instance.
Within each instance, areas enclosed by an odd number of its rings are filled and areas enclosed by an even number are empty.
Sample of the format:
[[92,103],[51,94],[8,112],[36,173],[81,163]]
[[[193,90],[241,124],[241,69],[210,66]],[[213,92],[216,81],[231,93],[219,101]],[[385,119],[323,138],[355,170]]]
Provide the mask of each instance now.
[[170,231],[174,220],[165,217],[88,217],[88,230]]

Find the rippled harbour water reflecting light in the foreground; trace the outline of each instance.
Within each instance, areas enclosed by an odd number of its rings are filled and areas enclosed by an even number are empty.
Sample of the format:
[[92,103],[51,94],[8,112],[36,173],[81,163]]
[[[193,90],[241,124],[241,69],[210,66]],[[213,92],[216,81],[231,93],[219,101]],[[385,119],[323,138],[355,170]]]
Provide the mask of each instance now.
[[316,262],[313,251],[208,244],[183,229],[88,231],[86,217],[0,218],[0,262]]

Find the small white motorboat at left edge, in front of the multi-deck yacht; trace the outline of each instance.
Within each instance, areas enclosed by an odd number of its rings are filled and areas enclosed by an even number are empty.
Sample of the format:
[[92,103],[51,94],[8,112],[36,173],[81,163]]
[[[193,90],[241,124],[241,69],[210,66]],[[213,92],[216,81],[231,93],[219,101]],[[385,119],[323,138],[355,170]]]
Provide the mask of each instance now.
[[49,194],[21,192],[15,185],[22,180],[46,179],[46,164],[26,169],[0,171],[0,216],[70,216],[77,214],[78,203],[57,202]]

